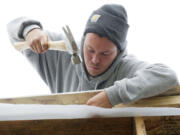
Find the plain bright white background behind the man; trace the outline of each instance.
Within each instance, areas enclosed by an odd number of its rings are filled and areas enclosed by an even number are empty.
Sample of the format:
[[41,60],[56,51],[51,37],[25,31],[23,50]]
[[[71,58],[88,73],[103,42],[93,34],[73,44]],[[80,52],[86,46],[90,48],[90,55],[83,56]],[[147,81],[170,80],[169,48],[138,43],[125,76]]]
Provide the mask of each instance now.
[[5,0],[0,2],[0,97],[50,93],[29,62],[10,45],[6,32],[10,20],[28,16],[55,32],[68,24],[79,40],[92,10],[104,3],[120,3],[127,9],[129,53],[167,64],[180,76],[178,0]]

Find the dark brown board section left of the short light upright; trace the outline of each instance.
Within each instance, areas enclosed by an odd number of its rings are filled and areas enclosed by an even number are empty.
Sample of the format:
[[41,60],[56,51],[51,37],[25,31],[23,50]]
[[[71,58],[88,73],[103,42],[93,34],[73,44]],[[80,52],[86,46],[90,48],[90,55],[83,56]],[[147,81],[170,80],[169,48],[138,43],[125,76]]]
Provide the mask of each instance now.
[[132,135],[132,118],[0,122],[0,135]]

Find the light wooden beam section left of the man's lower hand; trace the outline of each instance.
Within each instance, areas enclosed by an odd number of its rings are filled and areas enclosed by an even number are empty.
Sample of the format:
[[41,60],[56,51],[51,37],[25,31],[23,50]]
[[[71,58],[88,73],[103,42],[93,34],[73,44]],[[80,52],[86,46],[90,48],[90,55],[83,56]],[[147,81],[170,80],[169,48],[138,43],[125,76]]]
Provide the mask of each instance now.
[[99,91],[85,91],[85,92],[72,92],[72,93],[60,93],[44,96],[32,96],[32,97],[18,97],[18,98],[6,98],[0,99],[0,103],[10,104],[86,104],[89,98],[98,94]]

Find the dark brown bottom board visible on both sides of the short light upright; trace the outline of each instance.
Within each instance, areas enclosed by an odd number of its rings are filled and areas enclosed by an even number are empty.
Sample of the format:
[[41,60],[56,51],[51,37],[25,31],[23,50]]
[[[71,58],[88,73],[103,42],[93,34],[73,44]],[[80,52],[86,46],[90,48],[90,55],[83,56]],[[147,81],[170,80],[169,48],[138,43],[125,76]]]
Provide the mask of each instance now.
[[[143,119],[147,135],[180,135],[180,116]],[[144,135],[134,133],[133,123],[130,117],[0,121],[0,135]]]

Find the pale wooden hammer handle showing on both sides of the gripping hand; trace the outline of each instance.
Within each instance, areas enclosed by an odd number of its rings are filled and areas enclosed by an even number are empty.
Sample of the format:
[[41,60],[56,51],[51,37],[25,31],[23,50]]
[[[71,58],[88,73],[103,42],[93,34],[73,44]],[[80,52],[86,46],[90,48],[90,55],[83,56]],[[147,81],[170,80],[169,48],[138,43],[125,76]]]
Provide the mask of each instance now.
[[[67,51],[66,43],[64,40],[49,41],[48,46],[50,50]],[[18,51],[24,51],[30,48],[26,42],[16,42],[14,43],[14,47]]]

